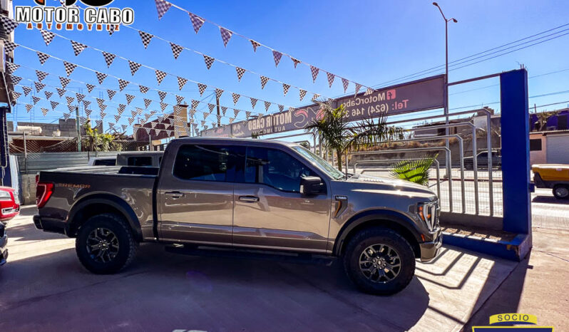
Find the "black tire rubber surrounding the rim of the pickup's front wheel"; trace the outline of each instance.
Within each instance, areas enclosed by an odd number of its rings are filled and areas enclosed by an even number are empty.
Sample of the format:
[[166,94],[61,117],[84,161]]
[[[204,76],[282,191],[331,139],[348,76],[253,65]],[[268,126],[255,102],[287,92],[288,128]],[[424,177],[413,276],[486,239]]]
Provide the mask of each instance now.
[[[387,245],[399,254],[401,269],[399,274],[384,284],[369,280],[359,267],[362,252],[374,244]],[[364,229],[350,239],[344,251],[344,270],[354,285],[364,293],[374,295],[391,295],[403,290],[415,274],[415,255],[411,244],[400,234],[379,227]]]

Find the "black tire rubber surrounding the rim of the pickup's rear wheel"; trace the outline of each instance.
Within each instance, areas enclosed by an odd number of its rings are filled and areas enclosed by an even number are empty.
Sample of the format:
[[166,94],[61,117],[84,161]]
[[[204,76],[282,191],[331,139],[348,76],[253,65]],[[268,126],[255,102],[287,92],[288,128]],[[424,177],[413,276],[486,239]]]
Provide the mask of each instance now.
[[[105,228],[111,230],[118,239],[118,253],[111,261],[101,263],[93,259],[87,250],[87,239],[94,229]],[[86,269],[94,274],[115,274],[130,264],[136,254],[138,242],[135,241],[130,227],[123,217],[113,213],[98,214],[89,218],[77,234],[75,251]]]

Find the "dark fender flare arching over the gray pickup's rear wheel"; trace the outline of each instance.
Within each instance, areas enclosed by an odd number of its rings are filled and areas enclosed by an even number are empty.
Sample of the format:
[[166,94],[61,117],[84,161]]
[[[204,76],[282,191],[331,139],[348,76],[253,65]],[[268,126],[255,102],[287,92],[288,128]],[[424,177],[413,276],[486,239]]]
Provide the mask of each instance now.
[[69,212],[68,215],[69,229],[66,230],[68,234],[71,234],[71,232],[73,232],[71,227],[73,227],[72,226],[73,224],[76,224],[76,222],[73,222],[73,220],[75,219],[77,214],[86,207],[93,204],[108,205],[109,207],[113,207],[113,209],[116,209],[118,212],[123,214],[123,217],[125,217],[126,221],[130,226],[130,229],[133,230],[135,239],[137,239],[138,241],[142,241],[143,239],[142,229],[140,227],[140,222],[138,221],[138,217],[136,216],[133,208],[130,207],[130,205],[127,202],[125,202],[124,199],[115,196],[113,194],[91,194],[81,198],[80,200],[78,200],[78,202],[73,204],[73,207],[71,207],[71,211]]

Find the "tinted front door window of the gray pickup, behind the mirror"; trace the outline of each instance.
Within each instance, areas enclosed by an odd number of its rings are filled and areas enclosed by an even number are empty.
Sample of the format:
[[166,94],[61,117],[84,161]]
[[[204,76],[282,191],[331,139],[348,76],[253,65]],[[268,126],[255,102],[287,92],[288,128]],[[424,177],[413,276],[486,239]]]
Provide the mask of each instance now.
[[263,183],[285,192],[299,192],[300,179],[317,176],[286,152],[264,147],[247,147],[245,182]]

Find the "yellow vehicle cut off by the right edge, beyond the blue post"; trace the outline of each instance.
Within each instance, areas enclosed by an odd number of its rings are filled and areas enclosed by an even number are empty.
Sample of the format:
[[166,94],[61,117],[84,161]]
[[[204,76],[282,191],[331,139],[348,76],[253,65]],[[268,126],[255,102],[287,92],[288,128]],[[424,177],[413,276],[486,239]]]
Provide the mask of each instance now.
[[569,165],[536,164],[531,170],[535,187],[550,188],[555,198],[569,199]]

